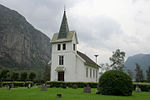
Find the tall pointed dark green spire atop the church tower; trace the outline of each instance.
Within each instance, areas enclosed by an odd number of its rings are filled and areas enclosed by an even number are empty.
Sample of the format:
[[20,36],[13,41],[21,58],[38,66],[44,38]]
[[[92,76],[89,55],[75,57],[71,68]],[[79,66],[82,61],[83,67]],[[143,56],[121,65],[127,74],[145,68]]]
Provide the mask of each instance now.
[[63,15],[63,19],[61,22],[58,39],[67,38],[68,32],[69,32],[69,27],[68,27],[68,23],[67,23],[66,11],[65,11],[65,7],[64,7],[64,15]]

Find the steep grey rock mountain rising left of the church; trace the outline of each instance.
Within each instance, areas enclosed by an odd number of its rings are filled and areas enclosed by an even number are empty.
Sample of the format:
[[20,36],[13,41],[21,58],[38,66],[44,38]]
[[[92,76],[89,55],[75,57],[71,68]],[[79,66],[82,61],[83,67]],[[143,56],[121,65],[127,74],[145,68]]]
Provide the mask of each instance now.
[[0,5],[0,68],[40,70],[50,59],[50,39],[18,12]]

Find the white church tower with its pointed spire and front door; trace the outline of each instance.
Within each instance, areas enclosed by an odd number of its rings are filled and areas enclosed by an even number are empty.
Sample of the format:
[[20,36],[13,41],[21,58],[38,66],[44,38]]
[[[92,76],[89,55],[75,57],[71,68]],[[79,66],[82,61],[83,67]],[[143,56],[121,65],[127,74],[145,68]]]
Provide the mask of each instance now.
[[51,81],[75,81],[78,39],[75,31],[69,31],[64,10],[60,30],[53,35]]

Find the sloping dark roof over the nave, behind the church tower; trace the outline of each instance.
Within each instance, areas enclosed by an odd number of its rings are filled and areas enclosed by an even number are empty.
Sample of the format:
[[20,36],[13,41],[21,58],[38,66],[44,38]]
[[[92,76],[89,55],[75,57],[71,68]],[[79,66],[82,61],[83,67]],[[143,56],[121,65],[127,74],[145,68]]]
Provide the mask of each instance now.
[[85,60],[85,64],[86,64],[86,65],[89,65],[89,66],[92,66],[92,67],[96,67],[96,68],[100,67],[98,64],[96,64],[92,59],[90,59],[90,58],[89,58],[87,55],[85,55],[84,53],[77,51],[77,54],[78,54],[82,59]]

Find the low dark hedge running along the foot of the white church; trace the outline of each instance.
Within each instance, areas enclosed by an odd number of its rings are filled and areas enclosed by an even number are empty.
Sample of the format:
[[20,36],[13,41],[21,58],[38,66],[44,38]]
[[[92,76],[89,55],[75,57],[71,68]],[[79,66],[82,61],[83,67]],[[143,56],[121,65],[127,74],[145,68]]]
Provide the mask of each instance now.
[[47,81],[47,85],[50,87],[61,87],[65,85],[66,87],[73,88],[74,85],[77,85],[78,88],[83,88],[89,85],[91,88],[97,88],[98,83],[96,82],[63,82],[63,81]]

